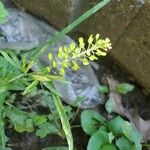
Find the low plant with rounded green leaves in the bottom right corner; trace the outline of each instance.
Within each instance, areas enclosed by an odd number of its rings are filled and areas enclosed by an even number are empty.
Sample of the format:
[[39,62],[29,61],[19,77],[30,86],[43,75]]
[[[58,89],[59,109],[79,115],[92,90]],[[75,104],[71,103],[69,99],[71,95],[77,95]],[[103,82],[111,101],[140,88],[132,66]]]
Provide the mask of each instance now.
[[81,126],[90,135],[87,150],[141,150],[141,135],[120,116],[106,120],[94,110],[84,110]]

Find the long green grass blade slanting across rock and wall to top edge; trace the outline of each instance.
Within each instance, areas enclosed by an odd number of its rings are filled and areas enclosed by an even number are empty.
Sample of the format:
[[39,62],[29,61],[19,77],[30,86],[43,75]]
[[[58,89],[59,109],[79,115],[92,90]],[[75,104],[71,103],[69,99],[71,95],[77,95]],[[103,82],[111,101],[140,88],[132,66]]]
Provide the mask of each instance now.
[[87,12],[85,12],[83,15],[81,15],[79,18],[77,18],[75,21],[73,21],[71,24],[69,24],[66,28],[64,28],[59,34],[56,34],[54,37],[50,38],[46,43],[41,45],[39,48],[36,48],[32,52],[32,56],[34,55],[33,59],[37,59],[43,52],[47,50],[47,48],[56,43],[59,39],[61,39],[64,35],[66,35],[68,32],[73,30],[76,26],[81,24],[84,20],[86,20],[88,17],[90,17],[92,14],[103,8],[106,4],[108,4],[111,0],[102,0],[97,5],[89,9]]

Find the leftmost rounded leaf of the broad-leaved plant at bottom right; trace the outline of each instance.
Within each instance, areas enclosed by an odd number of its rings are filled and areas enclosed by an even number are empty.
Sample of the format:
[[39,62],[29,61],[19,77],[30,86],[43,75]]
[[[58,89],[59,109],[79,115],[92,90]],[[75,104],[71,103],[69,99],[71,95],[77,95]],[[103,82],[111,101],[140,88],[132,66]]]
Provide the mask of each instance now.
[[100,124],[105,124],[105,118],[97,112],[87,109],[81,113],[81,126],[85,133],[92,135],[96,132]]

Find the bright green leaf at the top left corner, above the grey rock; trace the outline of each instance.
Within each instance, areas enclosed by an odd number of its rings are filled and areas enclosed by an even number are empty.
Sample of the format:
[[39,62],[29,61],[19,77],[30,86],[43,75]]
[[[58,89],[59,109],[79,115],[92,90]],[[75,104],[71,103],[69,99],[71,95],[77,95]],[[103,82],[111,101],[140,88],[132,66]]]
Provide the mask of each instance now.
[[3,3],[0,1],[0,23],[4,22],[7,16],[8,11],[4,8]]

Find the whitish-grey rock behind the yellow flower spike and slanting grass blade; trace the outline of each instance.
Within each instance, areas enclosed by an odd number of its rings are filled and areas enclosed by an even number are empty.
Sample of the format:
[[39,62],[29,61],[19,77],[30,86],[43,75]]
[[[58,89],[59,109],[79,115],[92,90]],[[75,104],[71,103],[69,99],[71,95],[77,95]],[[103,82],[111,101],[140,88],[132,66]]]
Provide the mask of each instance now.
[[[2,33],[0,49],[13,48],[14,50],[30,50],[38,47],[57,33],[53,27],[15,9],[9,9],[6,22],[0,24],[0,32]],[[71,42],[73,40],[65,36],[50,46],[41,56],[41,63],[49,65],[48,53],[50,51],[56,53],[59,47],[69,45]],[[55,82],[55,86],[65,102],[74,104],[77,97],[82,96],[85,100],[81,103],[81,108],[91,108],[103,103],[102,96],[97,91],[99,82],[90,66],[83,66],[77,72],[68,70],[65,77],[71,84]]]

